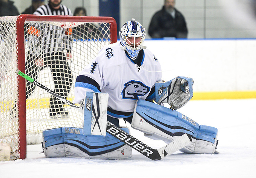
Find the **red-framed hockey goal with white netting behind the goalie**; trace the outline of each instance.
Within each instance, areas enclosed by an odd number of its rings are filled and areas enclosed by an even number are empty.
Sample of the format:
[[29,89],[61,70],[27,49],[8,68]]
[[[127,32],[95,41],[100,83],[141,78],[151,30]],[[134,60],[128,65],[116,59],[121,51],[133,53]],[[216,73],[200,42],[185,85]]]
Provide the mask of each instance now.
[[11,160],[24,159],[26,144],[40,143],[42,131],[82,128],[83,116],[15,71],[72,101],[77,75],[117,42],[117,25],[110,17],[0,17],[0,42],[0,144],[10,146]]

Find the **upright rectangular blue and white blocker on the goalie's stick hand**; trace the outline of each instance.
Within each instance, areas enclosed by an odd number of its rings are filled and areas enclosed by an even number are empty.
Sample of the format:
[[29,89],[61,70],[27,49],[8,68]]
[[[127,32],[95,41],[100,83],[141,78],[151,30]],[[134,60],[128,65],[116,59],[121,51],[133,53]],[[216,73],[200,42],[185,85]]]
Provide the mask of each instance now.
[[109,94],[86,92],[83,134],[106,136]]

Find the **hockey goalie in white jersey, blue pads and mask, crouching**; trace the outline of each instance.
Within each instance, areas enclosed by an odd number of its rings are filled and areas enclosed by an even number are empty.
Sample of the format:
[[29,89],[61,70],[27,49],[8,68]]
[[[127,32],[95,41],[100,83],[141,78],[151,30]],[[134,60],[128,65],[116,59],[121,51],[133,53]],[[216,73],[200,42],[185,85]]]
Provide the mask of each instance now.
[[[218,129],[199,125],[177,110],[193,96],[193,79],[162,81],[158,59],[143,46],[146,31],[132,19],[120,31],[120,42],[103,47],[76,79],[74,103],[84,109],[81,128],[43,132],[47,157],[122,159],[131,147],[106,133],[106,122],[120,127],[119,118],[151,139],[171,143],[187,134],[190,142],[180,151],[213,154]],[[163,103],[169,103],[170,108]],[[123,127],[129,133],[129,128]]]

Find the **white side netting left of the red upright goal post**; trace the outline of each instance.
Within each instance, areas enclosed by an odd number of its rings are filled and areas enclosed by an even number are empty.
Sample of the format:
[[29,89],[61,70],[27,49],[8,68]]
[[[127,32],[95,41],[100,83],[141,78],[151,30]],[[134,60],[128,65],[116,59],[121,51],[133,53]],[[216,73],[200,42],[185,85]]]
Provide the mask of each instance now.
[[9,143],[12,159],[18,157],[18,81],[13,72],[17,69],[16,46],[17,17],[0,17],[0,142]]

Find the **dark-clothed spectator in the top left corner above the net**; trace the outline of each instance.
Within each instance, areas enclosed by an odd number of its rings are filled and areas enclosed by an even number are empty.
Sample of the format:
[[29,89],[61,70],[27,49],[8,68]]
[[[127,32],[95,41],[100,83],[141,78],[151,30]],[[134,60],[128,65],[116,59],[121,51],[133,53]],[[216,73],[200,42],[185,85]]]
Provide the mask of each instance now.
[[14,2],[10,0],[0,0],[0,16],[20,15],[13,4]]

